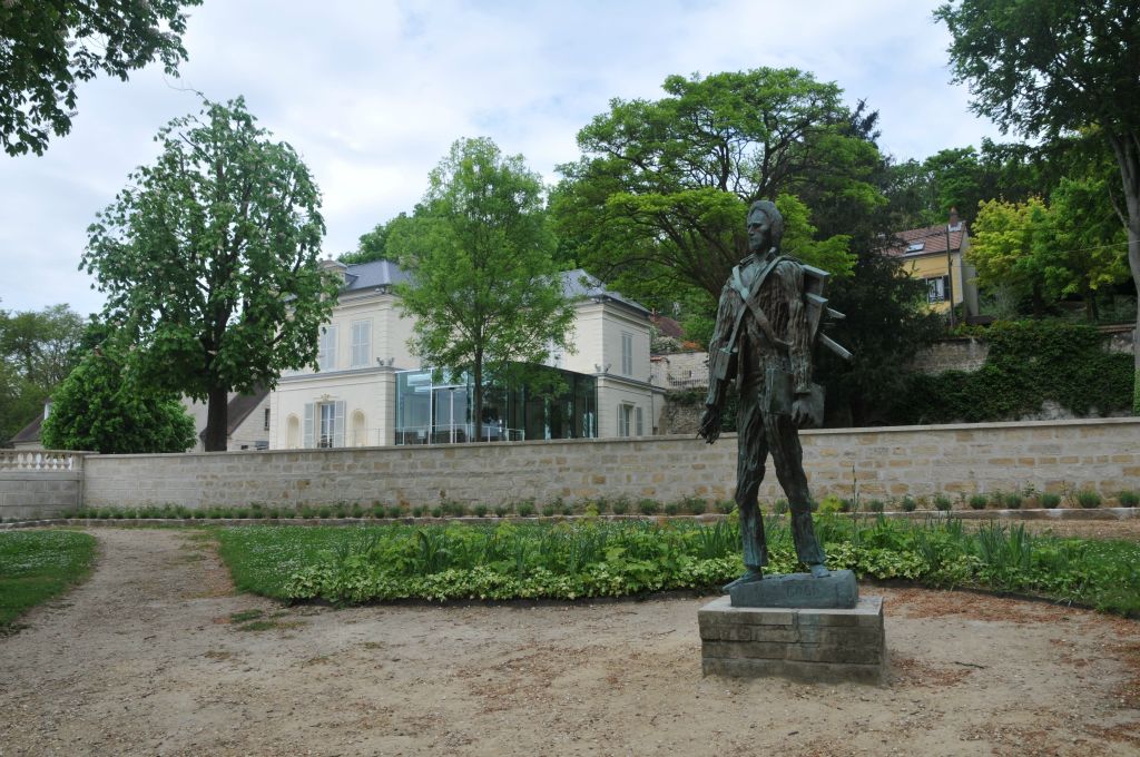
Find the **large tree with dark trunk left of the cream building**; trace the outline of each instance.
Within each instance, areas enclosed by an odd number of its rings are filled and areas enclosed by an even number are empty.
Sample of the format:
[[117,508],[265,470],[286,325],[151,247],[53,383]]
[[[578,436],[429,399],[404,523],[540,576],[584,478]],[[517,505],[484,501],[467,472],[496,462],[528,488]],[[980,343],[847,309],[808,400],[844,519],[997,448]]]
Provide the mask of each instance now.
[[223,450],[230,391],[316,359],[339,288],[318,264],[320,195],[242,98],[206,103],[157,140],[157,162],[88,229],[82,266],[135,340],[140,381],[206,401],[205,449]]

